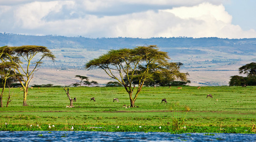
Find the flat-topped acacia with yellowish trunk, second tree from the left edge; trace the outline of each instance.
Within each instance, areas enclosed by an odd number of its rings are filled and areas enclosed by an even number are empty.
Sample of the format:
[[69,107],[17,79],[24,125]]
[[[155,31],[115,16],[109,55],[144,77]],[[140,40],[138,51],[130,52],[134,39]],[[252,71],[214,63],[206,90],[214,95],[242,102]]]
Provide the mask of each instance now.
[[[42,60],[44,58],[48,57],[52,61],[54,61],[55,56],[50,52],[47,47],[36,45],[9,47],[9,51],[14,57],[19,57],[25,62],[23,63],[20,60],[13,60],[15,58],[9,58],[10,62],[18,64],[18,66],[14,68],[14,72],[16,73],[17,71],[16,74],[21,74],[21,76],[17,78],[21,86],[23,87],[23,106],[28,106],[27,95],[29,91],[30,81],[33,79],[34,71],[36,71],[36,68],[43,63]],[[39,54],[41,54],[41,57],[39,57],[38,60],[34,59],[34,57]]]

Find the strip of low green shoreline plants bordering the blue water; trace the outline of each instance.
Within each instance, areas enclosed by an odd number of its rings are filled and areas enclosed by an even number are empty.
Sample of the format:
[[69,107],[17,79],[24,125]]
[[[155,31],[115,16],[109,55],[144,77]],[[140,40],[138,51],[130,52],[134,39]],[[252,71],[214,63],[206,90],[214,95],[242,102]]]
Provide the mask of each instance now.
[[[180,123],[179,123],[180,124]],[[0,131],[105,131],[105,132],[168,132],[168,133],[255,133],[254,127],[186,126],[174,129],[169,125],[65,125],[65,124],[1,124]]]

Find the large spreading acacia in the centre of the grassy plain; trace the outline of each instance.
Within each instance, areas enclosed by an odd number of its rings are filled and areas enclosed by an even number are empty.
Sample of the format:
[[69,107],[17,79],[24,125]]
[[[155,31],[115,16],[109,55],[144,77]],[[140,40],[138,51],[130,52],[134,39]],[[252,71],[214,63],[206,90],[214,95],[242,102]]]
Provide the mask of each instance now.
[[[187,80],[186,73],[180,73],[177,64],[168,60],[167,53],[159,51],[156,45],[138,46],[133,49],[110,50],[89,61],[86,69],[102,69],[109,77],[121,83],[128,92],[131,107],[135,107],[135,101],[145,80],[154,73],[168,72],[172,77]],[[135,80],[137,88],[133,86]]]

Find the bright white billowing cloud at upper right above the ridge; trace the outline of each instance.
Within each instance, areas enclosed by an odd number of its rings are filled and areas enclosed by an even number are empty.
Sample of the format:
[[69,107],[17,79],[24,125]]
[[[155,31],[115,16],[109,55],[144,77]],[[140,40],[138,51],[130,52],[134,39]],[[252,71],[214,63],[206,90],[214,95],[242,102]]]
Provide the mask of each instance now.
[[232,25],[232,16],[225,11],[221,5],[202,3],[193,7],[179,7],[163,10],[173,13],[176,17],[183,19],[182,23],[168,28],[168,35],[180,34],[189,37],[223,37],[223,38],[241,38],[256,37],[254,30],[243,31],[241,27]]

